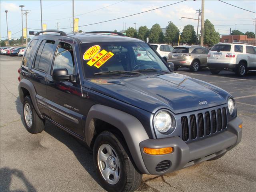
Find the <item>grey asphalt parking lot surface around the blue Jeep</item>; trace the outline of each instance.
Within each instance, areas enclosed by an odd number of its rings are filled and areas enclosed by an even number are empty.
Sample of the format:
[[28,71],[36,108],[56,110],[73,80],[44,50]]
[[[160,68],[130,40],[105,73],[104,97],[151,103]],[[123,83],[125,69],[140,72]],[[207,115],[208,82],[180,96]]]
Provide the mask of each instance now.
[[[101,192],[92,154],[50,122],[40,134],[30,134],[21,120],[18,98],[20,57],[0,56],[0,191]],[[143,176],[138,191],[256,191],[256,72],[237,77],[209,70],[178,73],[210,82],[230,92],[243,120],[242,141],[215,161],[206,161],[163,176]]]

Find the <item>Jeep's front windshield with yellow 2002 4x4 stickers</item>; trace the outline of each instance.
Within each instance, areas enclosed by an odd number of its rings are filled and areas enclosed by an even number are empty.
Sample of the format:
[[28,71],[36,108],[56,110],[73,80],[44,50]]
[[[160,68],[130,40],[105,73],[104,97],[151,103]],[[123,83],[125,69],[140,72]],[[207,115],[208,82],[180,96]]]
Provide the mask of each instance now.
[[99,74],[108,77],[170,72],[144,42],[83,43],[81,50],[86,78],[97,78]]

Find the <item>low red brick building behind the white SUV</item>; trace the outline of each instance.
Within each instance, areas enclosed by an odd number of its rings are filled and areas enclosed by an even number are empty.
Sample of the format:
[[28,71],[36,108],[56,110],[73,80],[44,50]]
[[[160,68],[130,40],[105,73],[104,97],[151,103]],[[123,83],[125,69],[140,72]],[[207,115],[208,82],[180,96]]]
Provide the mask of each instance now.
[[220,42],[242,42],[256,46],[255,38],[248,38],[247,35],[222,35],[220,38]]

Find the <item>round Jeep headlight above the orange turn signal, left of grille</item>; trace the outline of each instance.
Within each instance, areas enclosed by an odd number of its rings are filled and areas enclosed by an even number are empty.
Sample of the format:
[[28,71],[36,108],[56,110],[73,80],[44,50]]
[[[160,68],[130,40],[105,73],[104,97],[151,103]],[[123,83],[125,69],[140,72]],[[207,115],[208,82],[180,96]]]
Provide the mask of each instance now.
[[174,129],[174,124],[174,118],[171,116],[170,113],[166,111],[160,111],[154,117],[154,127],[161,133],[167,132],[168,130],[170,130],[170,128]]

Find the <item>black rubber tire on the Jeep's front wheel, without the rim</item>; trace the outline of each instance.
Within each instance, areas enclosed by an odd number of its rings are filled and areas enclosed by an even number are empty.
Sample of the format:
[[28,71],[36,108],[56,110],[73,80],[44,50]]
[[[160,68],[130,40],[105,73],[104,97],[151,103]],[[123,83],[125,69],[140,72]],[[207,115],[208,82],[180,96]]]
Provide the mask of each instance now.
[[[116,154],[116,156],[118,156],[118,159],[119,159],[120,176],[116,184],[110,184],[104,179],[103,174],[100,171],[101,168],[99,167],[99,164],[98,164],[98,152],[102,148],[102,146],[106,144],[110,145],[114,149],[114,152],[116,152],[114,154]],[[140,186],[140,183],[142,180],[142,174],[140,174],[136,170],[136,168],[134,168],[127,150],[128,149],[124,145],[124,141],[122,141],[121,138],[119,138],[118,136],[108,131],[104,131],[100,133],[95,140],[94,147],[93,147],[94,166],[98,174],[101,186],[108,192],[134,191]],[[106,154],[107,153],[108,152],[106,152]],[[102,161],[100,161],[100,163],[102,165]],[[107,163],[109,164],[109,162],[103,163],[105,164],[105,169],[108,169]],[[111,175],[109,175],[108,178],[110,178],[110,176]]]

